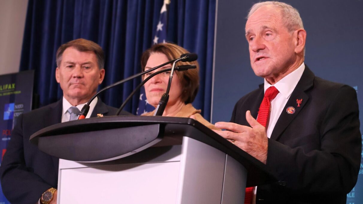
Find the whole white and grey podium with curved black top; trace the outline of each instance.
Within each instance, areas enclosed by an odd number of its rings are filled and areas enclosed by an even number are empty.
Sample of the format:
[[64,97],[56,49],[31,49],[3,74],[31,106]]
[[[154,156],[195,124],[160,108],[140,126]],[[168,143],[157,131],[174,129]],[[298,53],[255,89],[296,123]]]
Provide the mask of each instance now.
[[39,130],[30,142],[60,158],[58,204],[240,204],[245,187],[276,181],[191,118],[87,118]]

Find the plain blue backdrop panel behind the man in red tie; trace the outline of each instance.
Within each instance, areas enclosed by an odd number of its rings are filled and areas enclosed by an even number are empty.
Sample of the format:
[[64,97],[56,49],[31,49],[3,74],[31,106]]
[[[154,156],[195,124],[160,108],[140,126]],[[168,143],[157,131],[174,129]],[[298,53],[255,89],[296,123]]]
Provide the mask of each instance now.
[[[257,1],[217,2],[216,54],[212,97],[212,122],[229,121],[240,97],[258,88],[263,79],[254,75],[245,39],[245,17]],[[307,31],[305,63],[323,79],[356,89],[363,107],[361,49],[363,1],[286,0],[300,12]],[[360,118],[363,110],[361,108]],[[362,128],[361,128],[362,130]],[[361,131],[362,132],[362,131]],[[363,137],[363,136],[362,136]],[[363,157],[363,152],[362,152]],[[362,162],[363,163],[363,162]],[[347,204],[363,203],[363,165]]]

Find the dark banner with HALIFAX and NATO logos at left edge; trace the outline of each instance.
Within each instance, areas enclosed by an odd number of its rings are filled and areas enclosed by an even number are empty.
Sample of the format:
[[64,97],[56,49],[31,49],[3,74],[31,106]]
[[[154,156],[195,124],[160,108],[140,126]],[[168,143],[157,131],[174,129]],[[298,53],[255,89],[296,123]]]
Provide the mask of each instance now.
[[[1,161],[11,140],[11,131],[16,118],[32,108],[34,71],[0,75],[0,131]],[[0,186],[0,204],[9,203]]]

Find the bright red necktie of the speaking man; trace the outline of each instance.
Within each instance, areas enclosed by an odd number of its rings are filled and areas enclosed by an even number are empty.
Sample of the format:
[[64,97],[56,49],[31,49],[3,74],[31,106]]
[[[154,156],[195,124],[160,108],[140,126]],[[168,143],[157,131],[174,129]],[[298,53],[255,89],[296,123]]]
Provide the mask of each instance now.
[[[270,106],[271,101],[276,97],[278,94],[278,90],[272,86],[266,89],[264,99],[262,99],[260,109],[258,111],[257,122],[266,127],[267,121],[270,115]],[[253,188],[248,187],[246,188],[245,192],[245,204],[251,204],[253,200]]]

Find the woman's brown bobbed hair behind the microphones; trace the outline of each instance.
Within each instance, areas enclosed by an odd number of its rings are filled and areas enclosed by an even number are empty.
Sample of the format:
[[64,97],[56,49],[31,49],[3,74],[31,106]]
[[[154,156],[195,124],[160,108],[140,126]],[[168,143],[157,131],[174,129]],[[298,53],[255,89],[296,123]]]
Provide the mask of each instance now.
[[[181,54],[189,53],[183,47],[172,43],[159,43],[155,44],[146,51],[141,56],[141,68],[142,71],[145,70],[146,63],[152,53],[162,53],[165,54],[168,60],[172,60],[180,57]],[[160,63],[161,64],[161,63]],[[181,94],[181,101],[184,101],[185,104],[192,103],[197,95],[199,88],[199,64],[197,61],[194,62],[177,62],[178,65],[186,65],[186,64],[195,64],[197,68],[190,69],[186,71],[177,71],[181,87],[183,87]]]

